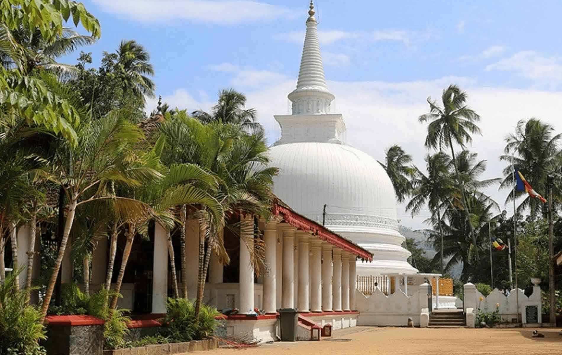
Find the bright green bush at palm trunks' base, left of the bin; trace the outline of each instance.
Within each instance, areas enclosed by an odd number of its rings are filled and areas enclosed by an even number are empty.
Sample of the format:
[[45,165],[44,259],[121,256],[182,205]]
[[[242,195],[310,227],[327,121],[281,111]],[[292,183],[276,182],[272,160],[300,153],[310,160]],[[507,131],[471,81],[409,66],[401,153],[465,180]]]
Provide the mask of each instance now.
[[169,338],[170,342],[208,338],[219,326],[219,321],[215,319],[219,315],[215,307],[202,304],[200,313],[196,316],[193,302],[185,298],[169,298],[166,317],[162,319],[161,335]]

